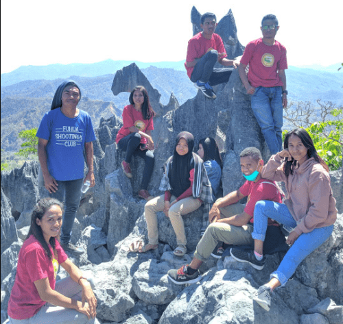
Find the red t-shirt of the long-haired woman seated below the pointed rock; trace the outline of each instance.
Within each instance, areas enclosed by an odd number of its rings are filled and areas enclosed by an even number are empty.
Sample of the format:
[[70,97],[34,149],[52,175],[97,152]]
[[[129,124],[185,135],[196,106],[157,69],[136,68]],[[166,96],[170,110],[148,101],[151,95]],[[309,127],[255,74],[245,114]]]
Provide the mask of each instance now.
[[[145,133],[146,131],[154,129],[153,118],[144,119],[142,112],[137,112],[134,109],[134,105],[126,105],[123,109],[123,127],[119,129],[117,138],[115,142],[119,142],[121,138],[130,135],[129,127],[137,127],[141,132]],[[147,139],[142,136],[142,144],[147,143]]]

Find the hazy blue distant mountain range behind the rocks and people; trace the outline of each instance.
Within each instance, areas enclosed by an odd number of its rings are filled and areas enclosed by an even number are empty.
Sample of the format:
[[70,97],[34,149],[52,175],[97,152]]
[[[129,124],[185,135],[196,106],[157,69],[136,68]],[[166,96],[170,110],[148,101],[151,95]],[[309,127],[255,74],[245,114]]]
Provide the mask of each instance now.
[[[18,151],[21,141],[17,134],[22,129],[38,127],[43,114],[50,109],[56,88],[64,79],[74,79],[79,84],[82,90],[80,108],[91,114],[95,127],[102,116],[108,118],[113,112],[121,116],[123,107],[128,104],[128,93],[114,96],[111,86],[117,70],[130,63],[107,60],[94,64],[21,66],[2,74],[1,149]],[[137,62],[137,65],[160,92],[163,104],[167,105],[171,92],[180,104],[196,96],[198,90],[187,77],[183,62]],[[343,105],[343,72],[337,72],[338,67],[339,64],[331,73],[290,66],[286,73],[289,102],[321,99]],[[329,69],[333,71],[333,68]]]

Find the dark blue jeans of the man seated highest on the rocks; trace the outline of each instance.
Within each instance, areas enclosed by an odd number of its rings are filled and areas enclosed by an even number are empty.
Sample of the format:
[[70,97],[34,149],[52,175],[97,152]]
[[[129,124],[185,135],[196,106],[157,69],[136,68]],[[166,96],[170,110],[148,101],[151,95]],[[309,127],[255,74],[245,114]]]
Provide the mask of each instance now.
[[194,66],[191,74],[191,82],[209,82],[211,86],[217,84],[224,84],[232,73],[232,69],[228,68],[214,68],[218,60],[218,52],[213,49],[202,56],[200,61]]

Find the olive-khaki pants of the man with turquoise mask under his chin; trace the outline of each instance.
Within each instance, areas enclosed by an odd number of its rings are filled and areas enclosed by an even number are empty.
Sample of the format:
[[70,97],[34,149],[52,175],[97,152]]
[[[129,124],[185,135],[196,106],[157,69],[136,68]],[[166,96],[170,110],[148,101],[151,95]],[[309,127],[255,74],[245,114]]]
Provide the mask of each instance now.
[[[244,212],[244,207],[245,205],[241,203],[228,205],[220,208],[220,216],[222,219],[225,219],[241,214]],[[218,242],[224,242],[229,245],[252,245],[254,242],[251,237],[253,229],[254,227],[250,224],[234,226],[225,223],[211,223],[198,243],[194,257],[200,261],[206,261],[211,256]]]

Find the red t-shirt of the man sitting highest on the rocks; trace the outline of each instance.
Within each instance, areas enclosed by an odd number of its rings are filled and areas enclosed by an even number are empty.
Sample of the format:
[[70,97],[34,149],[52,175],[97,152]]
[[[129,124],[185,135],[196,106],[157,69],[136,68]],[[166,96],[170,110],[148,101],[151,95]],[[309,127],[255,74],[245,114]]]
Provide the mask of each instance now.
[[[209,50],[215,49],[218,53],[225,53],[218,55],[218,60],[226,58],[226,50],[222,38],[218,34],[213,34],[211,39],[204,38],[202,33],[198,33],[188,41],[186,62],[193,62],[196,58],[202,58]],[[185,63],[187,75],[191,77],[194,66],[188,68]]]

